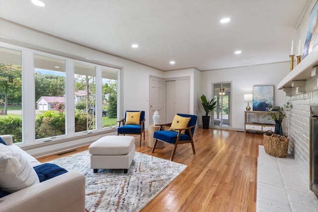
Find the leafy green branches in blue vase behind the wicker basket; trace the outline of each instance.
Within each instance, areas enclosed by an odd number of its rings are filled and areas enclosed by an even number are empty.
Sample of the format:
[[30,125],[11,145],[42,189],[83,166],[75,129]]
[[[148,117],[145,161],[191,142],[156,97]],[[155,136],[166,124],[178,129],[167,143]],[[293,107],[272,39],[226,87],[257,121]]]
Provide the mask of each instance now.
[[269,106],[269,112],[267,115],[270,116],[268,120],[273,119],[275,121],[275,134],[283,135],[282,122],[286,118],[286,111],[290,111],[293,105],[290,102],[286,102],[282,107],[275,107],[273,105]]

